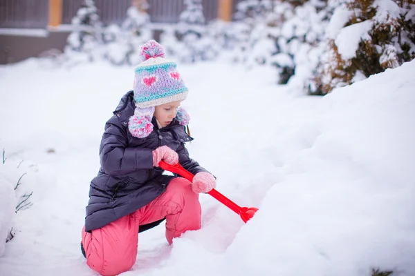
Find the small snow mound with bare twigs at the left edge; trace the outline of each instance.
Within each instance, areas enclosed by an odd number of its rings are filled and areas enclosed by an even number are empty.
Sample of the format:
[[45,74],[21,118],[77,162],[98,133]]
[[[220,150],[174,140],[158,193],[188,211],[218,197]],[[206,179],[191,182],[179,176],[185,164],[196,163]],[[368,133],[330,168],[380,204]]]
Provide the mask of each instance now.
[[0,159],[0,256],[6,242],[15,235],[12,223],[15,215],[33,205],[33,174],[36,166],[25,161],[6,157],[3,150]]

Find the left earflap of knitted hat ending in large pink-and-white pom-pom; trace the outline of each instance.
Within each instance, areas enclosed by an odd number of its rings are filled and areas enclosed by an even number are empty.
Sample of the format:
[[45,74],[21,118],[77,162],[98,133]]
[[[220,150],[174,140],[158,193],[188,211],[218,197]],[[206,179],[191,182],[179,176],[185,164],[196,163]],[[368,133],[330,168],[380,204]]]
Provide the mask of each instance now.
[[149,108],[138,108],[134,110],[134,115],[130,117],[128,130],[133,137],[145,138],[153,131],[151,118],[154,114],[154,106]]

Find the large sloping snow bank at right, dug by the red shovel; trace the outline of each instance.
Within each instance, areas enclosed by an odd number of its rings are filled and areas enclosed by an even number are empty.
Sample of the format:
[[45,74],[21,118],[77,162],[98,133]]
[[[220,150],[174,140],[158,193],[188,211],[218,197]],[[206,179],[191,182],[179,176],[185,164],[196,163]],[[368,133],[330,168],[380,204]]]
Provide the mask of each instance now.
[[283,161],[284,177],[228,248],[225,271],[415,274],[414,72],[412,61],[324,98],[320,116],[289,137],[304,149]]

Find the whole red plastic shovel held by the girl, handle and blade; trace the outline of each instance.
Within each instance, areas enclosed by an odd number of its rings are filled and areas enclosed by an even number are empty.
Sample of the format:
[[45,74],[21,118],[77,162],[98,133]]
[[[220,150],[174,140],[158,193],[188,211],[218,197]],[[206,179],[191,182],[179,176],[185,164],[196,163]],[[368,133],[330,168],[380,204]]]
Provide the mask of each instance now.
[[[177,173],[178,175],[181,175],[185,179],[189,180],[190,182],[192,182],[193,180],[194,175],[192,175],[191,172],[185,170],[185,168],[183,168],[180,164],[169,165],[165,161],[160,161],[158,165],[160,166],[160,168],[163,168],[163,170],[168,170],[169,172]],[[232,200],[228,199],[228,197],[225,197],[215,189],[212,189],[208,194],[212,195],[212,197],[219,200],[225,206],[228,206],[228,208],[234,211],[234,213],[237,213],[245,223],[246,221],[251,219],[258,210],[258,208],[255,207],[240,207],[237,204],[235,204]]]

